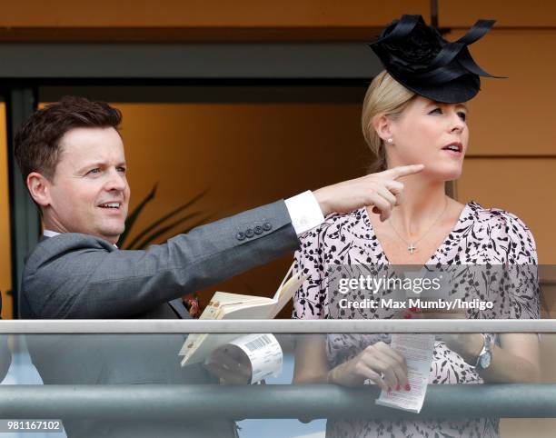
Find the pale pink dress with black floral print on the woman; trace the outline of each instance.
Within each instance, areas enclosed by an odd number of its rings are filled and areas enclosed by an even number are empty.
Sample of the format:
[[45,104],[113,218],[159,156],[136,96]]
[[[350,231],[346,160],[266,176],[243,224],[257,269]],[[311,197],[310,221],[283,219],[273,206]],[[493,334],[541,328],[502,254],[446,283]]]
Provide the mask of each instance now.
[[[323,224],[304,234],[301,249],[295,254],[296,270],[309,276],[294,297],[293,318],[333,318],[328,285],[333,264],[389,264],[386,254],[372,230],[364,208],[349,214],[333,214]],[[481,312],[468,311],[469,318],[539,318],[539,286],[536,269],[537,254],[530,230],[513,214],[485,209],[476,203],[466,204],[462,214],[445,241],[427,265],[523,265],[530,266],[520,284],[510,284],[498,291],[503,306]],[[523,277],[523,276],[522,276]],[[466,293],[465,299],[479,295],[477,290]],[[503,309],[503,310],[501,310]],[[343,313],[342,318],[392,318],[389,309],[366,309]],[[496,336],[487,333],[496,342]],[[352,359],[366,346],[379,341],[389,343],[390,335],[329,334],[326,353],[331,368]],[[474,367],[436,342],[429,383],[483,383]],[[327,437],[496,437],[498,419],[470,418],[461,420],[329,420]]]

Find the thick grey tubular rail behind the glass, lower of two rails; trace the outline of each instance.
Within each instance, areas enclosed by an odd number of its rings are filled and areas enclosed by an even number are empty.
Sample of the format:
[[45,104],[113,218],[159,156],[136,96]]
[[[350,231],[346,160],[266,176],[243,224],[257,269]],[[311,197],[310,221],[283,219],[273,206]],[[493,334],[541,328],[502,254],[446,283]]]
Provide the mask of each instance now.
[[418,415],[374,403],[376,387],[327,384],[2,385],[0,418],[179,420],[244,418],[552,418],[556,383],[438,384]]

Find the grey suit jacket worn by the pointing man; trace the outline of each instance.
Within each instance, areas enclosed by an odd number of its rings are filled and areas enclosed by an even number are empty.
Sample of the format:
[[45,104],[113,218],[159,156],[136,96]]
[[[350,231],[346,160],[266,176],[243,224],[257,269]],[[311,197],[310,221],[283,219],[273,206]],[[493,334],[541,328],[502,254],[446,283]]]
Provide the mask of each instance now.
[[[283,201],[200,226],[144,251],[117,250],[87,234],[60,234],[39,243],[27,257],[22,314],[40,319],[187,318],[178,297],[264,264],[298,244]],[[177,353],[184,336],[35,336],[27,343],[46,384],[213,382],[198,365],[180,367]],[[233,433],[233,424],[224,421],[66,421],[65,428],[70,436]]]

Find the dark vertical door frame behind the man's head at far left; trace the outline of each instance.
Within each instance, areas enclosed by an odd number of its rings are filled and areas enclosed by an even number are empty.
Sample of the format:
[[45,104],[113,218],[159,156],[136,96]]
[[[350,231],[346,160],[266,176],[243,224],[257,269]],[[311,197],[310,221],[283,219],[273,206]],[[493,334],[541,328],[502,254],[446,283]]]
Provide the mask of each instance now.
[[38,210],[27,193],[25,182],[14,156],[14,135],[36,108],[33,88],[14,87],[5,92],[8,145],[8,180],[12,244],[12,291],[14,317],[19,317],[19,292],[25,255],[37,244],[41,222]]

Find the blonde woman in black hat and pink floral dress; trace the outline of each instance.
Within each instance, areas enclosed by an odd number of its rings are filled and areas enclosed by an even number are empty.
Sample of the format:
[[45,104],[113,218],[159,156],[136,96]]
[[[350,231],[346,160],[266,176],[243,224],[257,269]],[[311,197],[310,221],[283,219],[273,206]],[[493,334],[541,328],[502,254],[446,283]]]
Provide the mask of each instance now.
[[[462,174],[469,142],[469,101],[479,75],[467,45],[493,22],[480,21],[455,43],[445,41],[420,15],[403,15],[383,32],[373,50],[385,71],[369,86],[362,131],[377,155],[377,202],[347,214],[333,214],[305,234],[297,269],[309,275],[294,300],[294,318],[357,317],[331,309],[326,265],[535,265],[531,232],[513,214],[460,204],[444,184]],[[422,164],[422,172],[397,179],[396,169]],[[368,176],[367,176],[368,178]],[[527,288],[500,298],[510,303],[464,316],[538,318],[535,274]],[[504,295],[504,294],[507,294]],[[472,292],[466,294],[472,299]],[[337,304],[334,304],[337,305]],[[335,311],[335,312],[334,312]],[[395,311],[368,309],[365,318],[392,318]],[[429,314],[429,317],[449,317]],[[461,316],[461,315],[459,315]],[[411,391],[400,353],[387,334],[308,336],[296,348],[295,383],[373,383],[383,390]],[[534,334],[466,333],[445,336],[434,348],[430,383],[534,382],[539,346]],[[438,434],[438,435],[437,435]],[[327,436],[498,436],[497,419],[331,420]]]

